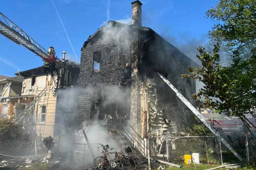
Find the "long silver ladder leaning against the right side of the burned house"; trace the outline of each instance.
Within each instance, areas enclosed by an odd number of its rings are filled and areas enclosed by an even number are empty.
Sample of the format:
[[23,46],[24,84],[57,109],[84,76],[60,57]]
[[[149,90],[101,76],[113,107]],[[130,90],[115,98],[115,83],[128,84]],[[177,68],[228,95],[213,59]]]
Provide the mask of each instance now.
[[[204,119],[204,117],[201,115],[201,113],[194,108],[194,106],[174,87],[174,85],[172,85],[170,83],[169,80],[167,80],[164,76],[162,76],[160,73],[157,73],[161,79],[163,79],[165,81],[165,83],[171,87],[171,89],[176,93],[176,96],[178,98],[180,98],[180,100],[186,104],[186,106],[198,117],[198,119],[200,119],[204,125],[206,125],[206,127],[215,135],[215,136],[219,136],[218,132],[212,128],[212,126],[210,126],[210,124],[208,123],[208,121],[206,119]],[[224,138],[222,138],[220,136],[220,140],[222,141],[222,143],[239,159],[242,160],[241,156],[229,145],[228,142],[226,142],[224,140]]]

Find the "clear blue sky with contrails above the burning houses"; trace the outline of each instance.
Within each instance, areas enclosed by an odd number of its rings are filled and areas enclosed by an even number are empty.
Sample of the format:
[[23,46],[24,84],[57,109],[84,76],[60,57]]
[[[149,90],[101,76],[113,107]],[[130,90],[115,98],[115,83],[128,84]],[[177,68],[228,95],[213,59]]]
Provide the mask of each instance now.
[[[1,0],[0,12],[16,23],[45,49],[55,48],[59,58],[80,62],[80,49],[107,20],[129,23],[131,0],[53,0],[69,35],[72,49],[52,0]],[[141,0],[143,26],[150,27],[193,60],[198,45],[208,42],[213,21],[205,12],[217,0]],[[75,51],[75,52],[74,52]],[[75,55],[76,53],[76,55]],[[76,57],[77,56],[77,57]],[[42,66],[40,57],[0,35],[0,74],[14,76]]]

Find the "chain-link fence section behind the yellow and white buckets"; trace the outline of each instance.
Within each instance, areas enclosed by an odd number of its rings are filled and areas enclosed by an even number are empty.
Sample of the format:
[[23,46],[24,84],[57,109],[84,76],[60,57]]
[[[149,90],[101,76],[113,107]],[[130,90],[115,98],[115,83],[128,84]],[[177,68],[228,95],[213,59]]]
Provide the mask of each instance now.
[[182,164],[184,155],[192,153],[199,153],[201,163],[222,162],[218,136],[150,137],[149,150],[150,157],[171,163]]

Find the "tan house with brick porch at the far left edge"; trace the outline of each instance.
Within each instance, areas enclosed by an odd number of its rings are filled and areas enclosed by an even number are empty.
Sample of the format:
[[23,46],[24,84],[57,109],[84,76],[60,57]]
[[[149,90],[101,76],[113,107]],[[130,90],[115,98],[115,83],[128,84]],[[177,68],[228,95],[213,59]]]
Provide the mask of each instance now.
[[[22,76],[6,77],[0,75],[0,118],[12,118],[21,114],[33,95],[21,96]],[[11,83],[11,84],[10,84]],[[10,86],[8,86],[10,84]]]

